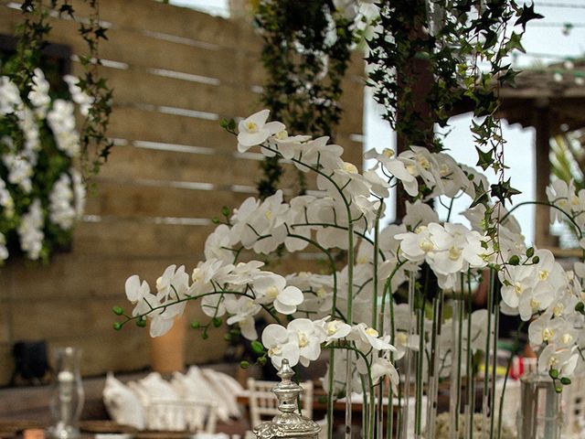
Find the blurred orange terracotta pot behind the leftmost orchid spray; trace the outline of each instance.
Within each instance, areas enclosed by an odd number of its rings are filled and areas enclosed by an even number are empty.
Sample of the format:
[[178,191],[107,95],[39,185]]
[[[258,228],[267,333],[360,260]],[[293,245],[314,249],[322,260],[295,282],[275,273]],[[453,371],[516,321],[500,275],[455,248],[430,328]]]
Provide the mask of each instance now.
[[153,371],[162,374],[183,371],[185,344],[186,316],[181,316],[164,336],[151,338],[150,364]]

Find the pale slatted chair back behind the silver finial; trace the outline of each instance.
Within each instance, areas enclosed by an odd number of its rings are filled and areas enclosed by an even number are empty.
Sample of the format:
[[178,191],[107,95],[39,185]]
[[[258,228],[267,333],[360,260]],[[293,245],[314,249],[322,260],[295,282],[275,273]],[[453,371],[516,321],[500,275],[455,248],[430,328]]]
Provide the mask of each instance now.
[[[250,401],[250,425],[255,427],[263,421],[270,421],[275,414],[279,413],[278,400],[272,389],[278,381],[262,381],[248,379],[248,391]],[[300,383],[303,388],[301,393],[302,414],[307,418],[313,416],[313,381]]]

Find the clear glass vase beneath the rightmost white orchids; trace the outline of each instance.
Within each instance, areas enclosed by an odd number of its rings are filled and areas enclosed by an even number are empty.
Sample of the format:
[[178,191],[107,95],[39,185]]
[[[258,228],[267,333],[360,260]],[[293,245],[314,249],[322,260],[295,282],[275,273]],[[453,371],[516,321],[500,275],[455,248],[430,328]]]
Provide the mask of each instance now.
[[559,439],[562,427],[561,395],[548,375],[537,372],[522,377],[518,439]]

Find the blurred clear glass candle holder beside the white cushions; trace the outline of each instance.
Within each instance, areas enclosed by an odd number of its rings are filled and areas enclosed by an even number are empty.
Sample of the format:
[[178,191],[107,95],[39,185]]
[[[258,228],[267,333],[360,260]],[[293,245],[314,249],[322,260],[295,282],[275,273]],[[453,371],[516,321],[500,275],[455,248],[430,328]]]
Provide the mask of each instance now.
[[80,437],[80,416],[83,409],[83,383],[80,374],[81,349],[55,349],[55,379],[50,395],[53,425],[48,435],[54,439]]

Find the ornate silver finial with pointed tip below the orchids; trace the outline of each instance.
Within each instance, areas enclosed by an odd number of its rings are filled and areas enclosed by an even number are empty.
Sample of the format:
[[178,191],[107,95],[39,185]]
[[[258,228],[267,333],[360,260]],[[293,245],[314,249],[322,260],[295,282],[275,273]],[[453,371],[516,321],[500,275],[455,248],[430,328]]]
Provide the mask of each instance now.
[[303,388],[292,380],[294,371],[291,369],[288,359],[282,359],[281,369],[277,375],[281,377],[282,381],[272,391],[278,398],[280,413],[274,416],[272,421],[261,423],[255,427],[254,434],[260,439],[273,437],[316,439],[321,427],[297,412],[297,401]]

